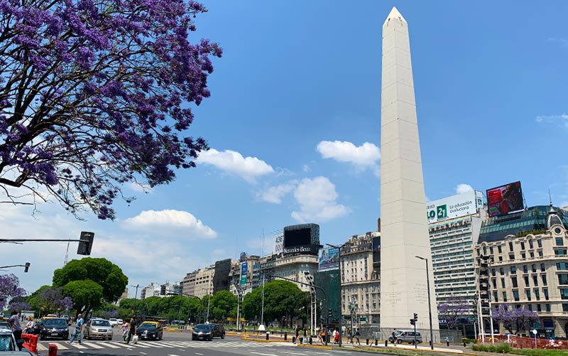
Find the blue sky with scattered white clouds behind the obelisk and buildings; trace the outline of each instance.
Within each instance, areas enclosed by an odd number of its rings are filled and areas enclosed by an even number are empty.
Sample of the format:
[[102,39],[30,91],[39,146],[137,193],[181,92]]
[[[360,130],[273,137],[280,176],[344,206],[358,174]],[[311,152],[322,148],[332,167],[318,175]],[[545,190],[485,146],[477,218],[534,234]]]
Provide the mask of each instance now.
[[[5,237],[95,232],[129,284],[177,281],[219,259],[269,252],[286,225],[322,242],[376,230],[380,216],[381,27],[409,23],[427,199],[520,180],[528,205],[568,205],[568,3],[546,1],[206,1],[197,36],[217,41],[212,97],[189,134],[211,151],[169,185],[126,193],[118,219],[57,205],[0,207]],[[264,235],[264,248],[262,236]],[[3,245],[32,292],[66,243]],[[77,258],[71,244],[69,259]],[[133,293],[133,288],[131,293]]]

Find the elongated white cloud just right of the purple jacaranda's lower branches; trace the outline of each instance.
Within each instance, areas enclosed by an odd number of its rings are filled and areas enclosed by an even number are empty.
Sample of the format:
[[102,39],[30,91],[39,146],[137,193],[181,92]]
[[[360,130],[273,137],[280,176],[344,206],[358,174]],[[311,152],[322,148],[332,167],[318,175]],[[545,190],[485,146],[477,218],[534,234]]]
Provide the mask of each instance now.
[[260,176],[274,173],[272,166],[265,161],[256,157],[243,157],[241,153],[230,150],[220,152],[216,149],[209,149],[209,151],[200,153],[197,162],[212,164],[250,183],[254,183]]

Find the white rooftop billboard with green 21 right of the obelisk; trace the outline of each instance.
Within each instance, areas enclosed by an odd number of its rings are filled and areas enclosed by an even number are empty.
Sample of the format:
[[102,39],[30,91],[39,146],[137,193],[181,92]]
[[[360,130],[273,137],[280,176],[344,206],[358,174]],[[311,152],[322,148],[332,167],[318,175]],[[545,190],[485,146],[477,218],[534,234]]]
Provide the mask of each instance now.
[[475,214],[480,207],[483,207],[482,196],[481,192],[471,190],[471,192],[428,202],[426,205],[428,223]]

